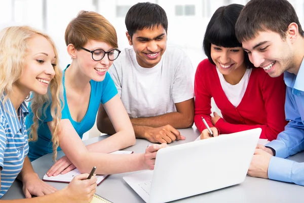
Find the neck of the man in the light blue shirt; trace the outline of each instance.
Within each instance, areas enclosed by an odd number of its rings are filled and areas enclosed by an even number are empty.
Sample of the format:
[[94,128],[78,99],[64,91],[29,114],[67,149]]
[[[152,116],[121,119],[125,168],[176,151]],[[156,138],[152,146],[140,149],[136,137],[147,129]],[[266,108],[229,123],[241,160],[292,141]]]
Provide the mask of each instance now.
[[293,65],[287,72],[297,75],[304,57],[304,38],[298,38],[298,41],[294,43],[294,46],[293,52],[295,54],[293,55]]

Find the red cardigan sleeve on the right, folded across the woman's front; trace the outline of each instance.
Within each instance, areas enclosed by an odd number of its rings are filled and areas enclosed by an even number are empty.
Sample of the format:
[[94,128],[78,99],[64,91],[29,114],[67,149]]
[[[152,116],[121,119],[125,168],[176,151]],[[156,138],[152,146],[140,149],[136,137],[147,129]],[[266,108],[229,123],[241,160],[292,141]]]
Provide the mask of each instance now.
[[262,129],[260,138],[273,141],[277,139],[280,132],[284,130],[288,123],[285,120],[285,83],[283,75],[271,78],[266,75],[260,92],[264,100],[266,123],[264,125],[231,124],[219,119],[215,126],[224,133],[234,133],[260,127]]

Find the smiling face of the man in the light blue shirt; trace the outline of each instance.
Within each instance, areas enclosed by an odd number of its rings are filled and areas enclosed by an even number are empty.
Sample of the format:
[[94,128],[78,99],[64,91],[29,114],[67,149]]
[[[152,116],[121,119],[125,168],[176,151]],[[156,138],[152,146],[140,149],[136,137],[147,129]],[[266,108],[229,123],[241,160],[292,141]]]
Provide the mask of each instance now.
[[271,77],[278,77],[294,67],[290,42],[276,32],[258,32],[254,39],[242,45],[254,66],[262,67]]

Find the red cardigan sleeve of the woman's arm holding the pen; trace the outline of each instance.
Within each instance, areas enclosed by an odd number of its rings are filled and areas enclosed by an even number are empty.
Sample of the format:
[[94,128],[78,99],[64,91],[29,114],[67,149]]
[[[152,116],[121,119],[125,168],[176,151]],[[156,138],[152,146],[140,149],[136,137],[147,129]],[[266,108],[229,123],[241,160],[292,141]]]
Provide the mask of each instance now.
[[197,128],[202,132],[206,129],[202,121],[202,117],[206,120],[209,127],[213,127],[211,122],[211,92],[210,88],[207,86],[207,81],[204,79],[204,74],[206,74],[205,65],[208,65],[206,60],[203,60],[198,65],[195,80],[194,80],[194,92],[195,92],[195,109],[194,109],[194,122]]

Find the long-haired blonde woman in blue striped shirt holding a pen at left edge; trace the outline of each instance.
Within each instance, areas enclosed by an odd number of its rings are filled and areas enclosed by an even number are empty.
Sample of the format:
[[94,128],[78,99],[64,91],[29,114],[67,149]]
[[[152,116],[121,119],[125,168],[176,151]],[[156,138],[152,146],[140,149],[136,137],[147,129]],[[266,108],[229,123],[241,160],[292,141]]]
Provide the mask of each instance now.
[[[96,178],[88,174],[75,177],[63,190],[44,183],[34,173],[28,153],[28,136],[25,117],[28,110],[25,98],[30,92],[34,124],[29,137],[37,139],[37,121],[43,114],[43,104],[50,103],[53,121],[54,148],[58,146],[61,112],[60,92],[62,74],[57,51],[52,40],[44,33],[27,26],[5,28],[0,35],[0,198],[15,179],[23,183],[26,198],[2,202],[89,202],[96,191]],[[48,90],[49,89],[49,90]],[[45,105],[46,108],[48,105]],[[57,192],[56,192],[57,191]],[[48,195],[46,195],[48,194]]]

